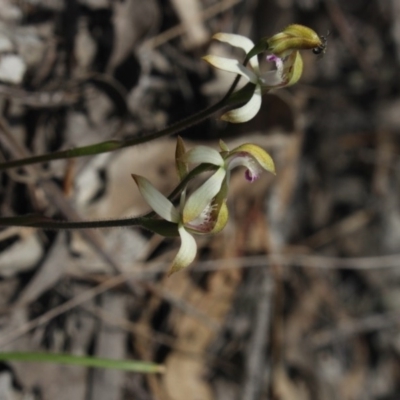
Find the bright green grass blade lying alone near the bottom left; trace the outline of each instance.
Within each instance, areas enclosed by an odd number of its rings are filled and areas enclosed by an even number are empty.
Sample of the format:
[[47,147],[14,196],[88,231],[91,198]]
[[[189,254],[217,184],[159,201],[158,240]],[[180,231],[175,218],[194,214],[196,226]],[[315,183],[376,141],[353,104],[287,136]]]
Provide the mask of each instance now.
[[88,356],[53,353],[0,353],[1,361],[47,362],[91,368],[112,368],[123,371],[154,374],[164,372],[164,366],[135,360],[113,360]]

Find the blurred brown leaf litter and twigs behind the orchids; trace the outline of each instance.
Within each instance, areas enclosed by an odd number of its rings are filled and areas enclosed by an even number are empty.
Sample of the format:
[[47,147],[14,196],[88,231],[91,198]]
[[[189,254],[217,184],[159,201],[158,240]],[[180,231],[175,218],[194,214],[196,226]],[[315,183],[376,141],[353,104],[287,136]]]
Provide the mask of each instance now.
[[[328,35],[297,85],[249,123],[218,115],[187,147],[257,143],[277,175],[235,171],[230,221],[179,242],[133,228],[0,231],[0,349],[140,359],[149,376],[0,364],[10,400],[400,399],[397,0],[0,0],[0,154],[11,160],[154,132],[218,101],[243,57],[291,23]],[[148,211],[131,173],[177,184],[175,139],[3,172],[2,216],[111,219]]]

